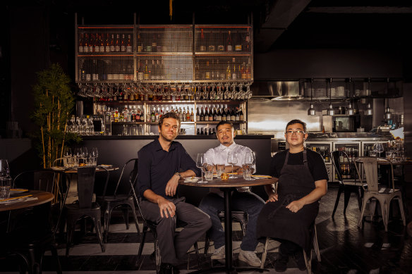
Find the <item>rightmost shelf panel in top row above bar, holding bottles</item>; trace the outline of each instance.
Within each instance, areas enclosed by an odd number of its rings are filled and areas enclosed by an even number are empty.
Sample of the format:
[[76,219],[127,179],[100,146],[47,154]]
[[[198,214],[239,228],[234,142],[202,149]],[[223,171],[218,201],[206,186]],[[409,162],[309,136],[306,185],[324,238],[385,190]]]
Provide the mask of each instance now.
[[195,26],[195,51],[200,52],[251,52],[250,26]]

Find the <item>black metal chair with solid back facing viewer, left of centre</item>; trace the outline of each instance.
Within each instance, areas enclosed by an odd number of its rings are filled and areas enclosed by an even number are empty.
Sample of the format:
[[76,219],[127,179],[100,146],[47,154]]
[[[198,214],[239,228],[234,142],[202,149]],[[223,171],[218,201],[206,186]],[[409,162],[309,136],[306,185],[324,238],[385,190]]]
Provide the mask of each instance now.
[[[101,167],[99,167],[101,168]],[[109,171],[102,168],[106,175],[106,185],[109,180]],[[93,189],[95,187],[96,167],[87,166],[77,169],[78,174],[78,203],[65,204],[64,214],[66,216],[66,256],[69,255],[69,249],[73,241],[73,232],[75,224],[80,218],[91,218],[96,230],[96,237],[99,241],[102,252],[104,252],[104,242],[102,237],[102,225],[100,223],[100,206],[92,201]]]

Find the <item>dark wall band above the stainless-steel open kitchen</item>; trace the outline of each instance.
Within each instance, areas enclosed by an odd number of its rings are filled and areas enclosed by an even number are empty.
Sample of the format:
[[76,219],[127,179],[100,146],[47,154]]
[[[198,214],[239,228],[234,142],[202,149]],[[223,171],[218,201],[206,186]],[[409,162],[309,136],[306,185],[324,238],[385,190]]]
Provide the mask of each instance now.
[[254,54],[255,80],[310,77],[403,77],[399,51],[275,49]]

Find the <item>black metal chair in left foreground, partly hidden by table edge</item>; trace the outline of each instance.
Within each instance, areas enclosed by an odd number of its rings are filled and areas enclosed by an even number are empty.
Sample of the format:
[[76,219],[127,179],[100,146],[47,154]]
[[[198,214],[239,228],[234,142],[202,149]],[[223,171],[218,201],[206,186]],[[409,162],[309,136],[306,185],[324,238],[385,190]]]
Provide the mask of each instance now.
[[[28,268],[28,273],[42,273],[43,256],[47,250],[52,252],[56,272],[61,273],[55,242],[61,204],[67,195],[67,189],[63,189],[61,180],[61,174],[54,170],[28,170],[18,174],[13,180],[12,187],[52,192],[58,201],[54,205],[47,203],[9,213],[8,232],[4,235],[1,246],[8,249],[6,253],[9,255],[18,256],[25,268]],[[55,222],[50,222],[52,208],[57,215]],[[20,268],[20,273],[25,273],[25,269]]]

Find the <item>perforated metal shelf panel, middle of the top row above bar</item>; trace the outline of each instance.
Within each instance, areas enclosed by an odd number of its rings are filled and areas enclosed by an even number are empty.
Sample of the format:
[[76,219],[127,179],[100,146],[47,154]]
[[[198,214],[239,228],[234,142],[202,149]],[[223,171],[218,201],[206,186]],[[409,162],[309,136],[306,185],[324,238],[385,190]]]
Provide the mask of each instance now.
[[193,51],[192,25],[140,25],[138,27],[138,52],[181,52]]

